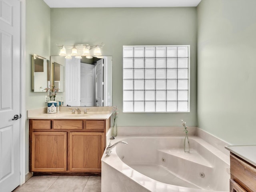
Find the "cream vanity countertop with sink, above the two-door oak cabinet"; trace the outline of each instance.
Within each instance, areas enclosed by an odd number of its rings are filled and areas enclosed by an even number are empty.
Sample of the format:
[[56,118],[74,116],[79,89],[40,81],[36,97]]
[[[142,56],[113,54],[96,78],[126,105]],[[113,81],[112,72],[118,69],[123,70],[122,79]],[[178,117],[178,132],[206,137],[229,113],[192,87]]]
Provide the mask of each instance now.
[[[47,114],[46,108],[38,108],[27,111],[28,119],[108,119],[112,115],[112,107],[78,107],[81,114],[72,114],[70,108],[76,107],[60,107],[60,111],[53,114]],[[87,114],[84,109],[89,108]]]

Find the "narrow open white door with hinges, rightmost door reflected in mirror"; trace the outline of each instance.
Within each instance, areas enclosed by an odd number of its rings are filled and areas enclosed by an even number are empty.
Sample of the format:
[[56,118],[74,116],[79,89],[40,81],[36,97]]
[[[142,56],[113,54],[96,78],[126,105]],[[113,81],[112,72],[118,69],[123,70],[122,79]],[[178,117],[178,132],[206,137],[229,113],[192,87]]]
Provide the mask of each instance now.
[[103,59],[96,65],[96,106],[103,106]]

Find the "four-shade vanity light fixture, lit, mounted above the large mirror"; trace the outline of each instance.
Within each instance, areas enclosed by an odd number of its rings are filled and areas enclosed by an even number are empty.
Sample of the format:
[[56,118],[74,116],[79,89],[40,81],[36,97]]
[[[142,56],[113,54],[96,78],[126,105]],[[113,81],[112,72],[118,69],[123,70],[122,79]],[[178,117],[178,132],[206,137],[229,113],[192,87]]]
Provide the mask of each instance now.
[[[58,46],[58,45],[57,45]],[[60,56],[65,56],[66,59],[71,59],[72,56],[75,58],[82,59],[82,56],[86,58],[92,58],[92,56],[100,57],[102,56],[101,48],[104,43],[100,45],[89,45],[89,44],[75,44],[75,45],[60,45]],[[90,50],[94,49],[94,53],[90,54]],[[70,51],[71,50],[71,51]]]

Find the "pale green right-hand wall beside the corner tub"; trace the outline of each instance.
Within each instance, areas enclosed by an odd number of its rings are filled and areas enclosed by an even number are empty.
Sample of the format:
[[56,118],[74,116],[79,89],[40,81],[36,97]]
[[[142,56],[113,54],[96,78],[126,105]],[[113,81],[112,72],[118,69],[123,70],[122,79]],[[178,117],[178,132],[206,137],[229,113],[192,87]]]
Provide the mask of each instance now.
[[202,0],[197,11],[198,127],[255,144],[256,1]]

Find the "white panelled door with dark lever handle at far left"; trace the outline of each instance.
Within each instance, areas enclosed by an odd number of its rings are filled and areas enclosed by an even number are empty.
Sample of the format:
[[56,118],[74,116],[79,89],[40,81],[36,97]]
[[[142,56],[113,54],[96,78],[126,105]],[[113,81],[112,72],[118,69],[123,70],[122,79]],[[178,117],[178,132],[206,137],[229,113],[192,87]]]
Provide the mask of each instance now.
[[20,1],[0,0],[0,191],[20,185]]

